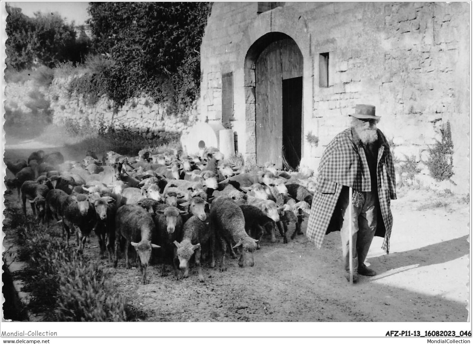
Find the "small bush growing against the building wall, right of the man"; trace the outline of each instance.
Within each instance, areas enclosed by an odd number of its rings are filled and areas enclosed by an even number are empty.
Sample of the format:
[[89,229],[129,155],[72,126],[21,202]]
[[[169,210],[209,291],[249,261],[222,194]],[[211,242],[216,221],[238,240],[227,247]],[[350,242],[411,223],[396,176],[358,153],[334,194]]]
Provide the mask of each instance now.
[[453,176],[453,142],[450,122],[441,131],[442,141],[429,147],[427,167],[436,181],[448,180]]

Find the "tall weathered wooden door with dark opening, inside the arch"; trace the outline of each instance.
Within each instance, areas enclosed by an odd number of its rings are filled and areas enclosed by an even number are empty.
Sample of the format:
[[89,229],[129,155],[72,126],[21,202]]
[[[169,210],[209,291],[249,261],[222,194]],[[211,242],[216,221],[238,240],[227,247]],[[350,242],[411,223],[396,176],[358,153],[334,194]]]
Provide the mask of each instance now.
[[[302,54],[292,39],[269,44],[256,61],[256,163],[272,162],[283,166],[283,144],[295,147],[286,153],[285,160],[295,168],[300,161],[302,132]],[[283,95],[283,80],[297,79],[284,84],[296,85]],[[300,83],[300,87],[299,87]],[[286,97],[283,112],[283,97]],[[299,109],[299,110],[297,110]],[[299,111],[299,114],[296,112]],[[283,129],[290,124],[289,129]],[[290,160],[290,162],[289,162]]]

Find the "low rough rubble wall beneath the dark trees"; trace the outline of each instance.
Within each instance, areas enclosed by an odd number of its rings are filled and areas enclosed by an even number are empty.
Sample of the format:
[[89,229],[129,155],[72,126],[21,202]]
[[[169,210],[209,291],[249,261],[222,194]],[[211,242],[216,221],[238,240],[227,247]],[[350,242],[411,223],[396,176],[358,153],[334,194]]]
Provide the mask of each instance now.
[[163,131],[188,132],[197,121],[197,102],[179,116],[168,114],[166,104],[155,104],[146,96],[128,99],[118,111],[114,111],[113,101],[105,96],[96,104],[89,105],[83,95],[69,94],[67,89],[70,79],[53,79],[49,87],[40,87],[33,80],[9,84],[5,88],[5,107],[27,114],[32,111],[27,104],[34,101],[30,95],[39,92],[49,101],[53,124],[71,120],[97,130],[101,125],[105,128],[128,128],[148,139]]

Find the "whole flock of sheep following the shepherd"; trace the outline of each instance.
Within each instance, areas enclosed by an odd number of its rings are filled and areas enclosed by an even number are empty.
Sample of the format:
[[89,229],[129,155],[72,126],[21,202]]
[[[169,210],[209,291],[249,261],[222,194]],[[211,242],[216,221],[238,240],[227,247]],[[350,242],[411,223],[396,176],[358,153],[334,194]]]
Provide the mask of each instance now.
[[300,173],[278,171],[272,164],[251,170],[231,166],[218,150],[185,157],[147,150],[137,157],[109,151],[101,160],[92,151],[86,155],[82,161],[64,161],[61,152],[38,150],[27,161],[5,161],[15,175],[5,184],[18,190],[25,217],[28,200],[35,221],[46,229],[53,219],[62,224],[68,245],[75,233],[80,253],[92,231],[101,257],[107,251],[114,267],[122,250],[129,268],[128,251],[134,247],[143,284],[154,249],[161,275],[172,264],[176,279],[178,267],[188,277],[192,257],[201,282],[201,258],[209,257],[215,267],[220,256],[220,270],[227,270],[226,255],[236,258],[235,249],[239,266],[253,266],[263,234],[275,242],[277,228],[287,243],[293,223],[291,239],[302,234],[312,203],[310,178],[299,179]]

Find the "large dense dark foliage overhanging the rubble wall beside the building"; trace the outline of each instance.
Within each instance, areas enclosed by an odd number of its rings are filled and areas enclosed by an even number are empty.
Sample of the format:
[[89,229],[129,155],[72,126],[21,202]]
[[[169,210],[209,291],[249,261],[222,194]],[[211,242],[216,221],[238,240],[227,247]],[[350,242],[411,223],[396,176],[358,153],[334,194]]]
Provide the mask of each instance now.
[[198,97],[209,3],[91,2],[88,12],[95,54],[114,62],[96,78],[117,106],[147,94],[175,113]]

